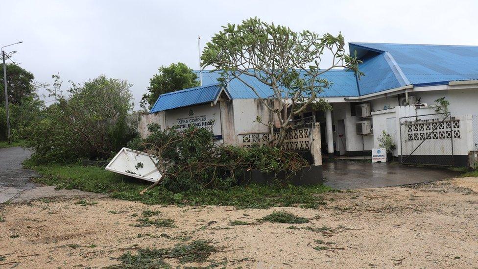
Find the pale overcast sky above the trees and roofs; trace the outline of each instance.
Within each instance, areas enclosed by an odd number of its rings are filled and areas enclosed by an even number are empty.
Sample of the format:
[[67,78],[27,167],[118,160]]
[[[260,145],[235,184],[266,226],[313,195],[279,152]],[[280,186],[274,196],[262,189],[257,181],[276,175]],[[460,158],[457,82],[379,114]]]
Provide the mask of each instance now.
[[[83,82],[100,74],[126,79],[136,106],[158,67],[198,69],[204,45],[227,23],[257,16],[347,42],[478,45],[478,1],[294,0],[1,0],[1,45],[42,83],[52,74]],[[45,90],[40,90],[45,93]],[[47,101],[51,98],[46,98]]]

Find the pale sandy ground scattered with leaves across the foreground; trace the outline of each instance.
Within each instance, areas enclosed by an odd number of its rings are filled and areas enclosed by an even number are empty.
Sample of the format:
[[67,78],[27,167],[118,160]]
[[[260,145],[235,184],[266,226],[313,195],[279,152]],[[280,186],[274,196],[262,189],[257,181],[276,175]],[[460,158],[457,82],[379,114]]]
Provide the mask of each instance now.
[[[229,251],[209,259],[226,258],[228,268],[478,268],[477,192],[478,178],[459,178],[326,194],[327,204],[317,209],[149,206],[110,198],[89,206],[75,204],[78,199],[6,204],[0,209],[0,267],[101,268],[135,247],[169,247],[191,236],[226,246]],[[143,210],[159,210],[151,219],[170,218],[177,227],[130,226],[138,219],[131,215]],[[295,224],[299,229],[229,224],[257,223],[274,210],[311,222]],[[329,249],[313,248],[319,245]],[[182,266],[191,265],[199,264]]]

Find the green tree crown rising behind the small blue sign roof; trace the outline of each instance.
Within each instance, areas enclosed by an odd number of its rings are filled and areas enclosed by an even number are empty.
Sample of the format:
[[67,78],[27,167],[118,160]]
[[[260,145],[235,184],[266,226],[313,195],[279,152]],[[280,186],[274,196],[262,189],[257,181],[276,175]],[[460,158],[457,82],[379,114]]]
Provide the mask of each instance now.
[[140,105],[152,106],[160,95],[199,86],[197,75],[186,64],[170,64],[159,68],[159,73],[149,80],[148,92],[143,95]]

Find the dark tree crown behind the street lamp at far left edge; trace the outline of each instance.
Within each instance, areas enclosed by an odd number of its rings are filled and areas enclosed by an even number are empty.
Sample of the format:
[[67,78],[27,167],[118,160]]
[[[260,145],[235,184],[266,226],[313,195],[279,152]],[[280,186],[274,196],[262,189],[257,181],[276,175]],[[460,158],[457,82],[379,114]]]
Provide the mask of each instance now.
[[[7,67],[7,90],[8,103],[21,105],[24,98],[34,93],[32,73],[24,70],[16,64],[6,64]],[[5,102],[5,89],[3,82],[3,64],[0,65],[0,102]]]

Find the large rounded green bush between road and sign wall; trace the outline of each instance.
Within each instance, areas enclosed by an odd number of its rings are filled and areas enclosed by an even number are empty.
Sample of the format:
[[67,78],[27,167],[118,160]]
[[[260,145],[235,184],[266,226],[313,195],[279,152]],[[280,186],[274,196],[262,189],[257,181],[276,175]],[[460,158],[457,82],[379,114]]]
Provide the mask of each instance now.
[[74,85],[70,97],[42,111],[41,117],[24,129],[27,147],[38,162],[74,162],[81,158],[111,156],[136,136],[130,84],[101,75]]

